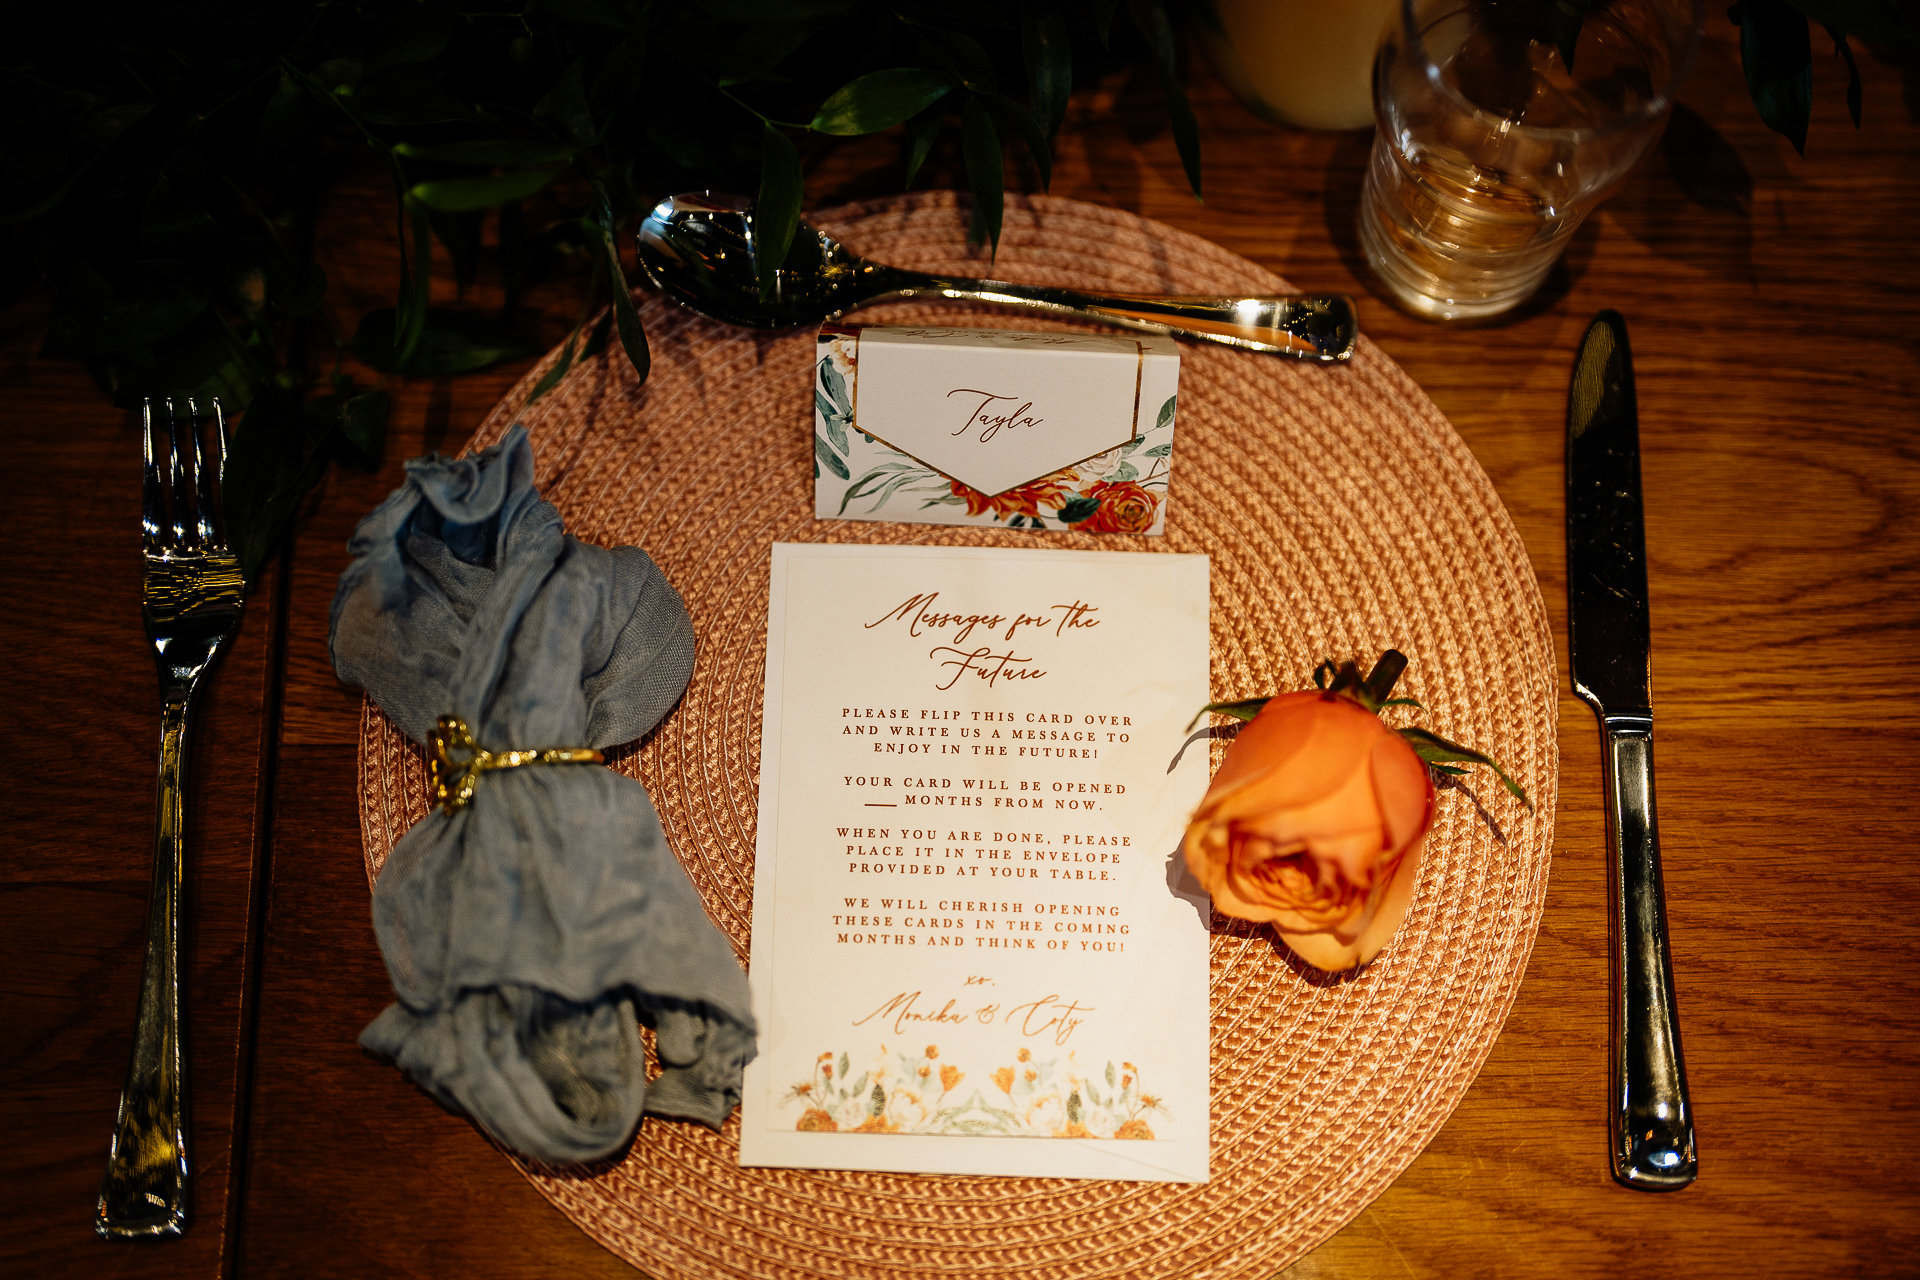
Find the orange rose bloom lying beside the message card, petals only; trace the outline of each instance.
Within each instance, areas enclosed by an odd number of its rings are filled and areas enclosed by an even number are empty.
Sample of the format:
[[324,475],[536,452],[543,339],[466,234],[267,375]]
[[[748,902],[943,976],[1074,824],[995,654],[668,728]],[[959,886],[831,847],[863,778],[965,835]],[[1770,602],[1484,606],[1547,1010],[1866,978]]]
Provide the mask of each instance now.
[[1227,748],[1183,848],[1215,908],[1340,971],[1400,929],[1432,812],[1427,766],[1373,710],[1284,693]]

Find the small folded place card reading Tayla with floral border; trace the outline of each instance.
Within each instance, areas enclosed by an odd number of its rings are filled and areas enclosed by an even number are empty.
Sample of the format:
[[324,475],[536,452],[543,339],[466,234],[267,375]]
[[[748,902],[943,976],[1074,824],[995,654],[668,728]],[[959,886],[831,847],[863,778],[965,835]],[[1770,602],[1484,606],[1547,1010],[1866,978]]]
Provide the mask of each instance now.
[[1179,382],[1152,334],[826,324],[814,514],[1162,533]]

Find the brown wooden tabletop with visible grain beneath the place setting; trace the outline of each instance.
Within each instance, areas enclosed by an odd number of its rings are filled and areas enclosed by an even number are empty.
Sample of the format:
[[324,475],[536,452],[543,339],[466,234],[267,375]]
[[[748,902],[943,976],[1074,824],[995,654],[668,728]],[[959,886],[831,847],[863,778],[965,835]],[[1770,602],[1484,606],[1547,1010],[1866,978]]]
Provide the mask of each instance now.
[[[1563,693],[1553,879],[1507,1031],[1432,1146],[1292,1276],[1920,1270],[1920,789],[1905,777],[1920,762],[1920,61],[1860,54],[1855,132],[1841,63],[1816,58],[1801,159],[1755,117],[1734,35],[1713,25],[1665,146],[1538,299],[1475,330],[1407,319],[1369,284],[1365,134],[1263,125],[1194,67],[1198,205],[1144,77],[1073,104],[1054,194],[1359,296],[1365,330],[1494,478],[1561,637],[1569,367],[1594,311],[1632,322],[1701,1180],[1647,1196],[1607,1176],[1597,729]],[[891,140],[860,142],[816,167],[808,201],[885,194],[897,175]],[[371,194],[349,184],[323,217],[344,319],[392,290],[392,215]],[[557,338],[570,303],[549,301]],[[388,380],[386,466],[334,472],[248,606],[194,754],[196,1217],[171,1244],[92,1238],[146,913],[154,677],[136,428],[75,365],[36,355],[42,322],[31,305],[0,317],[27,530],[0,604],[19,837],[0,873],[0,1272],[632,1276],[355,1046],[390,988],[359,854],[359,693],[328,666],[326,606],[348,532],[399,461],[459,449],[526,363]]]

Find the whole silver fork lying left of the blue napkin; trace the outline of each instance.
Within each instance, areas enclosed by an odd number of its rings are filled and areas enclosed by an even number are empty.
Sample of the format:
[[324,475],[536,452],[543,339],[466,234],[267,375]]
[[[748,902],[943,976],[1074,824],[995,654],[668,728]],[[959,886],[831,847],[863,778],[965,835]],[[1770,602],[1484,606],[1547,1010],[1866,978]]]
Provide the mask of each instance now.
[[[156,405],[140,411],[146,478],[140,509],[146,635],[159,664],[159,812],[146,917],[140,1021],[121,1090],[94,1230],[109,1240],[179,1236],[186,1226],[186,1061],[180,1046],[180,846],[186,835],[186,722],[200,679],[240,626],[240,560],[219,505],[227,418],[211,401],[219,461],[200,447],[202,413],[165,407],[165,476],[154,459]],[[190,474],[188,474],[190,472]],[[215,484],[215,480],[219,484]],[[219,528],[217,528],[219,526]]]

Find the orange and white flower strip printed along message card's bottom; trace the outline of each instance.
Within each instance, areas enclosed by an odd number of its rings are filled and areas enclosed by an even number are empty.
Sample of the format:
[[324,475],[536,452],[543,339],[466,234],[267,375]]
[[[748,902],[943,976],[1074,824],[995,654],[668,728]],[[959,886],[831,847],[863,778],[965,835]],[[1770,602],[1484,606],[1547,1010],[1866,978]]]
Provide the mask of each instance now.
[[[812,1079],[787,1090],[781,1107],[801,1105],[799,1132],[922,1134],[964,1138],[1121,1138],[1154,1140],[1150,1115],[1165,1103],[1142,1092],[1140,1069],[1108,1061],[1089,1075],[1073,1054],[1041,1061],[1031,1050],[983,1077],[924,1054],[895,1054],[885,1044],[849,1080],[852,1057],[843,1050],[814,1061]],[[972,1079],[972,1084],[968,1084]],[[1102,1090],[1100,1084],[1106,1082]]]

